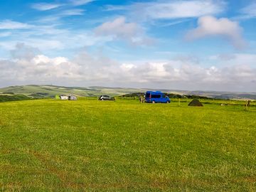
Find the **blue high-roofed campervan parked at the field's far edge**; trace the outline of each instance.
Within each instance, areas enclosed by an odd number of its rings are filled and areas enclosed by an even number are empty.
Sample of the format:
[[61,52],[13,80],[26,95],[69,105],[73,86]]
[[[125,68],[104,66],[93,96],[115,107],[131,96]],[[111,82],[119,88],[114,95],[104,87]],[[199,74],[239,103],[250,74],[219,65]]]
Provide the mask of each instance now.
[[161,91],[147,91],[145,95],[145,102],[164,102],[169,103],[171,102],[170,98],[164,95],[164,92]]

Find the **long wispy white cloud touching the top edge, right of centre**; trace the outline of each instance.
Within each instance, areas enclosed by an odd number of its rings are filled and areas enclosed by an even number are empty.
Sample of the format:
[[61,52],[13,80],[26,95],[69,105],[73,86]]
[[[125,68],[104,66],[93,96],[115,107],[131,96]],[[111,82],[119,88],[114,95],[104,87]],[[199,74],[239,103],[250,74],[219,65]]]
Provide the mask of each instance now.
[[[125,11],[137,20],[196,18],[225,11],[224,0],[159,0],[134,3],[127,6],[105,6],[105,11]],[[139,17],[138,17],[139,16]]]

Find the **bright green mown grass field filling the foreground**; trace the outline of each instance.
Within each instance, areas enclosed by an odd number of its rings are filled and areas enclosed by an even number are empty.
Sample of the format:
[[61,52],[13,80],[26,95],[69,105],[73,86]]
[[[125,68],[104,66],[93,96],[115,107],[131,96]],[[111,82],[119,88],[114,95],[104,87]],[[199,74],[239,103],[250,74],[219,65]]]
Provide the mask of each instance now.
[[256,107],[0,103],[0,191],[256,191]]

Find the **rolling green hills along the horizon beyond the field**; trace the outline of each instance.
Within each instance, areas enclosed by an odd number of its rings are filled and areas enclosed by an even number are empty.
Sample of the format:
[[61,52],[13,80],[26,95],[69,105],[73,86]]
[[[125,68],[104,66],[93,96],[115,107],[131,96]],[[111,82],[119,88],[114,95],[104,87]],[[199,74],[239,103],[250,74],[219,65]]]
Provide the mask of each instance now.
[[[57,85],[23,85],[0,88],[1,93],[14,95],[26,95],[32,98],[51,98],[55,95],[76,95],[78,97],[95,97],[100,95],[129,95],[133,93],[143,93],[147,88],[122,88],[122,87],[64,87]],[[210,97],[214,99],[235,99],[235,100],[256,100],[256,92],[215,92],[215,91],[186,91],[186,90],[168,90],[159,89],[163,92],[173,95],[196,95],[200,97]]]

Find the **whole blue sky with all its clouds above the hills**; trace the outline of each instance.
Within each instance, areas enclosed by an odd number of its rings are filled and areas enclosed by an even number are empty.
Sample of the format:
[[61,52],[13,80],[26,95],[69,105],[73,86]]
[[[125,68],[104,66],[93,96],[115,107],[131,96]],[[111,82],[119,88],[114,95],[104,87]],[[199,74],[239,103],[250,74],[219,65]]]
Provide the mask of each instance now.
[[0,87],[256,92],[256,0],[0,0]]

